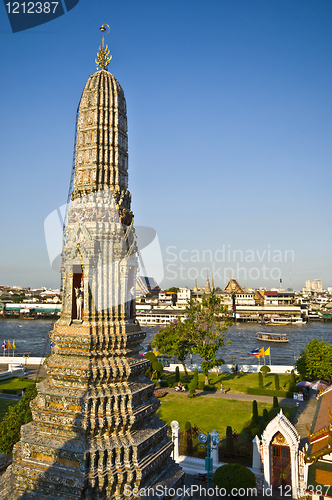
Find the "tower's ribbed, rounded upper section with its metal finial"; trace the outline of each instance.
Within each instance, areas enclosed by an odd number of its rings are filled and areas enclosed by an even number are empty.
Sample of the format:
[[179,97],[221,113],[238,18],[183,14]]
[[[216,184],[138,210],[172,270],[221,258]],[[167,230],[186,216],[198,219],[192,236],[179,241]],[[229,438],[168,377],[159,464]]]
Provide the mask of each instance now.
[[88,79],[79,105],[72,200],[111,189],[121,221],[130,224],[126,100],[119,82],[106,71],[108,56],[103,36],[96,59],[101,69]]

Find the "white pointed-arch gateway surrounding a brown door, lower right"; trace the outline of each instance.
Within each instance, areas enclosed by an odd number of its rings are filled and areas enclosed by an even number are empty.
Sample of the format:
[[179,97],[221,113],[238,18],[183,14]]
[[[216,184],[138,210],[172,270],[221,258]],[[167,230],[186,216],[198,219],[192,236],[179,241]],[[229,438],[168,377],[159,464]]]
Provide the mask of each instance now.
[[280,410],[262,434],[265,487],[281,486],[282,495],[289,491],[290,497],[298,498],[299,443],[295,427]]

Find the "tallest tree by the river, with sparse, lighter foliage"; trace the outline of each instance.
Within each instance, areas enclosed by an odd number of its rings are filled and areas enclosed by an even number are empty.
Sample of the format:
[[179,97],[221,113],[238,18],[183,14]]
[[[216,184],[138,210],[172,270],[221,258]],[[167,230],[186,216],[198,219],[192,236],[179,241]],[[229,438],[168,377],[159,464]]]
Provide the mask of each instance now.
[[191,299],[186,309],[190,352],[203,359],[201,366],[206,385],[209,384],[209,370],[225,363],[223,359],[217,359],[218,351],[225,343],[224,333],[232,325],[225,312],[221,299],[213,293],[203,295],[201,302]]

